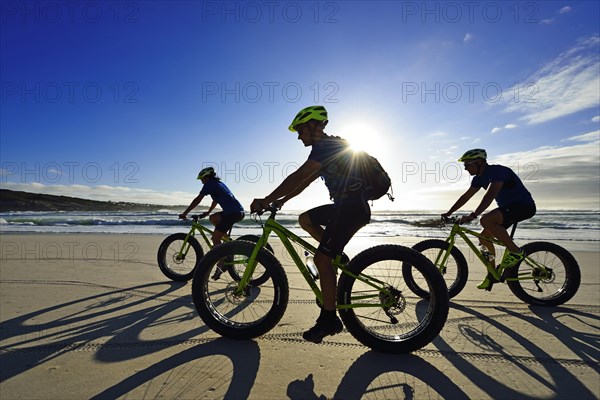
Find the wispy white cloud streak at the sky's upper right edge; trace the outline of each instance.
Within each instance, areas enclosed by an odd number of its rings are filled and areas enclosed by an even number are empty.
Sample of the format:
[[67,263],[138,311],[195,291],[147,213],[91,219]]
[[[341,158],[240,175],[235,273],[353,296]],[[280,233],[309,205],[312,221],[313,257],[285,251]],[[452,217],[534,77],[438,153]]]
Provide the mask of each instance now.
[[[505,112],[539,124],[600,105],[600,37],[581,39],[523,83],[509,89]],[[519,94],[518,96],[516,94]]]

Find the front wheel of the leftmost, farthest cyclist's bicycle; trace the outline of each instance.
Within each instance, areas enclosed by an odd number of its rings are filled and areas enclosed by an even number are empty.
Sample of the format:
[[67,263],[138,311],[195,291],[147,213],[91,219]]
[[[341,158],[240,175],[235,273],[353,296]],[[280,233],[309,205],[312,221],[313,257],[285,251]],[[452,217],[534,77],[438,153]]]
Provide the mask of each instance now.
[[167,278],[178,282],[192,279],[196,264],[204,257],[202,246],[193,237],[187,241],[190,248],[181,254],[186,237],[186,233],[174,233],[167,236],[158,247],[158,267]]

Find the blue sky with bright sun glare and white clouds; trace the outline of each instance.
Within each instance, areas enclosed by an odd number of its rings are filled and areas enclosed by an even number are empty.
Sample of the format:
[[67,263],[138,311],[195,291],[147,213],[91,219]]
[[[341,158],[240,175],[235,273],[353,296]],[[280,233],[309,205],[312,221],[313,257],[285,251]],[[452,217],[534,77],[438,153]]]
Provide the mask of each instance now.
[[391,175],[375,209],[448,209],[474,147],[538,208],[600,208],[598,2],[0,7],[2,188],[188,204],[213,165],[247,208],[306,160],[287,127],[322,104]]

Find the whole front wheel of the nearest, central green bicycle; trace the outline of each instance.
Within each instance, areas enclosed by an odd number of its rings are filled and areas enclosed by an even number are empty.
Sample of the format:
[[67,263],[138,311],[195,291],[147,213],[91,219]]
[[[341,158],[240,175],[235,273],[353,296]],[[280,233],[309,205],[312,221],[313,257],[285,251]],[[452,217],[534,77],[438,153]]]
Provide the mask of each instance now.
[[267,333],[281,320],[288,303],[289,286],[283,268],[265,249],[258,253],[255,275],[268,272],[262,285],[252,282],[236,293],[235,280],[211,279],[223,260],[245,266],[255,244],[243,240],[223,243],[209,251],[200,261],[192,281],[196,311],[204,323],[232,339],[251,339]]

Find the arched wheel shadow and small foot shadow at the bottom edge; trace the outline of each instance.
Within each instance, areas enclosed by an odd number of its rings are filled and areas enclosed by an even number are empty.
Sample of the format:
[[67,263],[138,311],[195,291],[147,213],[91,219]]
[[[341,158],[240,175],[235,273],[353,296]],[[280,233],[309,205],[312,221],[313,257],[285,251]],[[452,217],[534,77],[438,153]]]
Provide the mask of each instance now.
[[[374,351],[366,352],[350,366],[333,398],[355,399],[368,395],[376,398],[414,399],[417,390],[413,385],[419,380],[435,390],[441,398],[469,398],[446,374],[417,355]],[[382,393],[378,393],[379,391]],[[326,398],[325,395],[314,392],[312,374],[304,380],[291,382],[287,395],[292,400]]]

